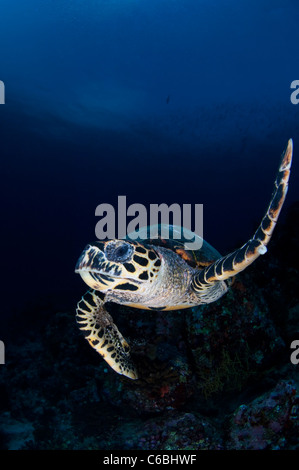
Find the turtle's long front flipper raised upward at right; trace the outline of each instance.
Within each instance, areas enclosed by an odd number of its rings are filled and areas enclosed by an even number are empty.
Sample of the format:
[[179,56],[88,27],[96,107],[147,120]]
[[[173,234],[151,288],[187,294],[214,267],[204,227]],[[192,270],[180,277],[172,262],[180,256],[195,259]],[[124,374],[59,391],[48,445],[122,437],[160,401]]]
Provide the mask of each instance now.
[[[272,236],[287,194],[292,154],[293,141],[290,139],[286,150],[282,154],[271,202],[254,236],[238,250],[219,258],[210,266],[194,274],[192,288],[199,297],[201,295],[208,297],[208,290],[211,288],[212,293],[215,290],[213,288],[216,283],[232,278],[247,268],[260,255],[266,253],[267,244]],[[224,291],[227,290],[225,286],[222,287]]]

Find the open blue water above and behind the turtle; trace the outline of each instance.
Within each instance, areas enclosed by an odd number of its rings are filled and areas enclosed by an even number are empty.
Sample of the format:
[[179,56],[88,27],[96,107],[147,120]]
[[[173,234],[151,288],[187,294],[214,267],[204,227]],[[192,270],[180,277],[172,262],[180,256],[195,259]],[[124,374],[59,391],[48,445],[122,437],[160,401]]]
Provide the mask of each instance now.
[[204,204],[204,237],[244,243],[294,139],[295,0],[1,0],[0,325],[75,306],[97,205]]

